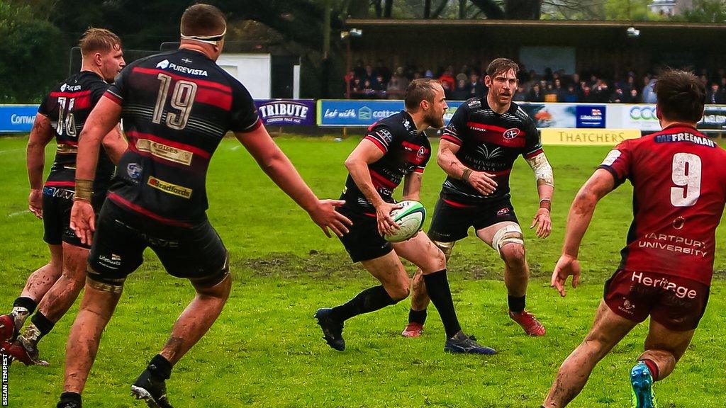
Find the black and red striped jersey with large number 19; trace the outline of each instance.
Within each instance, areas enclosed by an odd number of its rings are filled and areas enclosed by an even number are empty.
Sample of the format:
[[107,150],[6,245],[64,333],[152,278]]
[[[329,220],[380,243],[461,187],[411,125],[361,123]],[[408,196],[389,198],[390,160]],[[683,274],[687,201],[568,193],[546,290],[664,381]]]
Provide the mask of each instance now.
[[163,224],[205,219],[207,168],[222,137],[261,126],[245,86],[189,49],[127,65],[105,97],[123,107],[129,139],[108,198]]

